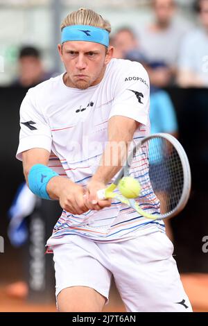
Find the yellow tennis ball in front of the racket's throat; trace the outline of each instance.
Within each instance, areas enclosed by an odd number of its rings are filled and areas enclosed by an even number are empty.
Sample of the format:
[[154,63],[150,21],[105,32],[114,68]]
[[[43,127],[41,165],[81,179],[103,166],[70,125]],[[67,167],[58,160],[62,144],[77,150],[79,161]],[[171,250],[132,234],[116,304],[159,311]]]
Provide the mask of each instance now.
[[118,187],[121,194],[126,198],[136,198],[141,191],[139,182],[132,177],[123,177],[119,181]]

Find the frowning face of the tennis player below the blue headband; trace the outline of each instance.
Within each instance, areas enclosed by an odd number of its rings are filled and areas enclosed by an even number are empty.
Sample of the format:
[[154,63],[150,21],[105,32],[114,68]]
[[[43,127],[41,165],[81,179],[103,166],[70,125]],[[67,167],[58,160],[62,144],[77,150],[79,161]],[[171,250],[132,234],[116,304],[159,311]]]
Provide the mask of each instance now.
[[112,58],[112,46],[107,53],[102,44],[68,41],[58,45],[60,57],[67,70],[64,82],[68,87],[86,89],[101,82],[105,68]]

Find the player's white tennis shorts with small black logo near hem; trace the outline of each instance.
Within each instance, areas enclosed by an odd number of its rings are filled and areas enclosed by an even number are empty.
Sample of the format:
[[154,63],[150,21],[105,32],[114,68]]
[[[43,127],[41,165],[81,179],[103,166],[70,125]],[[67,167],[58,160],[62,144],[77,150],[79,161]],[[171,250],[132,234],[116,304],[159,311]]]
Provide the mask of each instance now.
[[69,237],[69,243],[53,246],[56,295],[70,286],[89,286],[108,300],[113,274],[127,311],[192,311],[166,234],[118,243]]

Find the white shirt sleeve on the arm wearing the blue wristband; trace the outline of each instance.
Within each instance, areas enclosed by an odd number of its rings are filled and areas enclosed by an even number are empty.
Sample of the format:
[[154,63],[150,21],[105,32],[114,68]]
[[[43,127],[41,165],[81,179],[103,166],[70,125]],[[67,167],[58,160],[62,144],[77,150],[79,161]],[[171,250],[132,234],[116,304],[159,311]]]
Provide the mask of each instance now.
[[22,152],[31,148],[43,148],[51,153],[51,130],[29,89],[20,107],[19,146],[16,157],[22,160]]

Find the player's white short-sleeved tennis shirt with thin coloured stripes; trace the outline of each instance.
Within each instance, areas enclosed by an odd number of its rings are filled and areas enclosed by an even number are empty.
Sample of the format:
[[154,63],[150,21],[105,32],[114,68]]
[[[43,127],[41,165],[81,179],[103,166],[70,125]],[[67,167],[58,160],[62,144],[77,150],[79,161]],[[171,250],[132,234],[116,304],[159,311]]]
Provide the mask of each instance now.
[[[112,59],[101,83],[87,89],[67,87],[63,75],[28,90],[20,108],[17,158],[21,160],[21,153],[28,149],[44,148],[51,153],[51,169],[85,187],[101,159],[111,117],[120,115],[141,123],[135,141],[149,134],[149,79],[138,62],[121,59]],[[156,212],[155,195],[150,191],[145,196],[143,208]],[[66,243],[73,234],[110,242],[158,229],[164,230],[164,223],[139,216],[114,200],[111,207],[98,212],[73,215],[63,211],[47,245]]]

